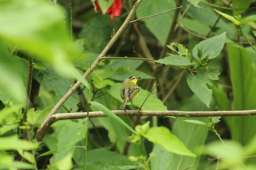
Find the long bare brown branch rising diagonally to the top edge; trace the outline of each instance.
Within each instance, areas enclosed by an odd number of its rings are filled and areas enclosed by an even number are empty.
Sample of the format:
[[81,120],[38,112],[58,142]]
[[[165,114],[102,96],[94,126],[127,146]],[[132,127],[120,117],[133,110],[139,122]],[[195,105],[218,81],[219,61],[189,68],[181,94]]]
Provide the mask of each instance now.
[[[113,35],[113,37],[111,38],[110,42],[106,45],[106,47],[103,49],[103,51],[101,51],[101,54],[97,57],[97,59],[91,64],[90,69],[88,69],[84,74],[83,77],[86,78],[87,76],[90,75],[91,71],[99,64],[99,62],[101,61],[102,57],[105,56],[105,54],[110,50],[110,48],[112,47],[112,45],[116,42],[116,40],[119,38],[120,34],[123,32],[123,30],[128,26],[129,21],[131,19],[131,17],[133,16],[133,14],[135,13],[138,5],[140,4],[142,0],[137,0],[133,6],[133,8],[131,9],[131,11],[129,12],[128,16],[126,17],[125,21],[123,22],[123,24],[120,26],[119,30],[116,32],[116,34]],[[37,129],[37,133],[35,138],[38,141],[41,141],[47,131],[47,128],[49,127],[48,123],[51,119],[51,116],[53,114],[56,113],[56,111],[63,105],[63,103],[73,94],[73,92],[76,91],[76,89],[81,85],[81,81],[77,81],[72,88],[70,88],[68,90],[68,92],[66,94],[64,94],[64,96],[59,100],[59,102],[56,103],[56,105],[53,107],[53,109],[50,111],[50,113],[47,115],[46,119],[44,120],[44,122],[42,123],[42,125],[40,127],[38,127]]]

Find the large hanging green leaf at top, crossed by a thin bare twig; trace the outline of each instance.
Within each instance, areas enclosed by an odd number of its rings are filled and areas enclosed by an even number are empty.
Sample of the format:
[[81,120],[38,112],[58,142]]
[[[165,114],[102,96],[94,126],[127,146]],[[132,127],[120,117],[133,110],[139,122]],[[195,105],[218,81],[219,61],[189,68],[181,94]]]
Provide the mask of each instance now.
[[[175,8],[174,0],[143,0],[136,10],[138,18],[150,16],[171,8]],[[162,15],[144,19],[148,29],[155,35],[157,40],[164,45],[169,33],[174,11]]]

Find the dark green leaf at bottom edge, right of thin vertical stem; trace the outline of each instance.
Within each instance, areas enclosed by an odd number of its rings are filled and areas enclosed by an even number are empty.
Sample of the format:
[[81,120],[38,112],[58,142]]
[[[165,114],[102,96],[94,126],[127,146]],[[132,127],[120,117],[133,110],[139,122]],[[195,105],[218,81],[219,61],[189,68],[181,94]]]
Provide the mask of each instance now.
[[87,170],[131,170],[135,168],[136,163],[119,153],[110,152],[104,148],[87,152]]

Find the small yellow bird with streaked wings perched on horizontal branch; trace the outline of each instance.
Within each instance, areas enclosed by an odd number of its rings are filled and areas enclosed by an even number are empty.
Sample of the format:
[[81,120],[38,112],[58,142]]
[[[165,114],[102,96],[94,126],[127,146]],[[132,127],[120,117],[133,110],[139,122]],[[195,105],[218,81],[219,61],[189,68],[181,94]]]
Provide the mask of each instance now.
[[[121,98],[123,99],[120,109],[125,109],[126,103],[131,102],[138,96],[139,86],[137,85],[138,79],[141,77],[130,76],[123,81],[121,88]],[[133,105],[133,103],[132,103]],[[135,108],[135,106],[133,105]],[[135,108],[136,109],[136,108]]]

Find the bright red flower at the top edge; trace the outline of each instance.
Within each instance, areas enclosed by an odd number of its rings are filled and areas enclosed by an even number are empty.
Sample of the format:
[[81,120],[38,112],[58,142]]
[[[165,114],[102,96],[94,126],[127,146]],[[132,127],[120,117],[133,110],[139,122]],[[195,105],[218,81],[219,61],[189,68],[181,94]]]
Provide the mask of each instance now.
[[[99,11],[102,12],[98,0],[95,0],[94,4],[99,9]],[[115,22],[114,17],[119,17],[121,15],[122,6],[122,0],[114,0],[110,8],[108,8],[107,14],[110,15],[111,22]]]

